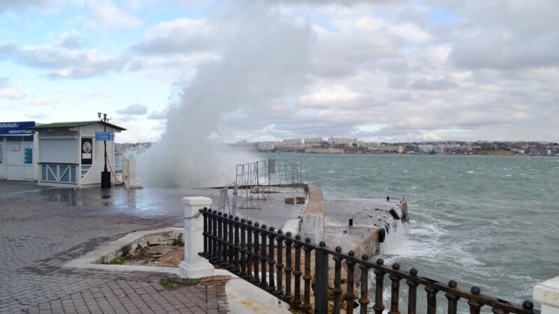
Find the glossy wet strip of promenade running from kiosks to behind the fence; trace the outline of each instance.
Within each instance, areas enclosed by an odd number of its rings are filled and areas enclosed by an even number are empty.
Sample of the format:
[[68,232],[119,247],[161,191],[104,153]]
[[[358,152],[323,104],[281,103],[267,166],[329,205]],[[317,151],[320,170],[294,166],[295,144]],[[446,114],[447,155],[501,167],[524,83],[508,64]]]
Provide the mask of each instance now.
[[[261,209],[238,208],[236,216],[258,221],[276,228],[282,228],[289,220],[296,220],[302,215],[305,204],[285,204],[286,196],[305,196],[303,190],[293,188],[275,188],[276,193],[263,193],[253,204]],[[229,196],[233,191],[228,191]],[[177,223],[182,226],[184,221],[184,204],[182,197],[205,196],[212,199],[212,208],[219,206],[219,190],[210,188],[141,188],[127,189],[124,186],[113,186],[108,190],[99,187],[82,189],[37,186],[29,181],[0,181],[0,199],[2,197],[22,197],[57,202],[76,209],[96,207],[106,209],[106,214],[130,214],[139,218],[159,218],[176,216]],[[264,200],[266,199],[266,200]],[[240,207],[245,198],[238,198]],[[1,204],[1,201],[0,201]],[[229,214],[230,206],[222,209]],[[245,205],[245,207],[251,207]],[[1,205],[0,205],[1,208]]]

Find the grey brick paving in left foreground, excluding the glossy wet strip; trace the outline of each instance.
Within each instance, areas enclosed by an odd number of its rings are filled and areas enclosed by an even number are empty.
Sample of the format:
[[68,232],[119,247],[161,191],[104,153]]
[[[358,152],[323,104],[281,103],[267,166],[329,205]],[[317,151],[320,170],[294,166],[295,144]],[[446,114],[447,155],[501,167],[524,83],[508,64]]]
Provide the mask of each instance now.
[[67,190],[25,192],[36,186],[6,182],[0,181],[0,313],[227,311],[215,287],[164,289],[160,281],[173,275],[62,267],[124,234],[182,226],[182,208],[138,213],[123,202],[99,197],[83,204]]

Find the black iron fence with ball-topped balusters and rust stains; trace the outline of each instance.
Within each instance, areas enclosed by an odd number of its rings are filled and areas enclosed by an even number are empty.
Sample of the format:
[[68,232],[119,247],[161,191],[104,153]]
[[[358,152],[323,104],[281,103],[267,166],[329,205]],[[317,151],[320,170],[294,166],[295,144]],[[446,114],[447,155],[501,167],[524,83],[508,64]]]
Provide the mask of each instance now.
[[[460,299],[467,300],[471,314],[479,314],[483,306],[490,307],[495,314],[540,313],[528,300],[522,304],[511,304],[481,294],[477,286],[470,291],[463,290],[457,286],[456,281],[444,284],[423,278],[418,276],[414,268],[402,271],[398,263],[390,267],[384,265],[382,258],[370,262],[370,257],[366,254],[361,258],[356,257],[353,251],[344,254],[339,246],[331,250],[324,241],[313,244],[309,238],[302,241],[298,234],[293,237],[291,232],[284,234],[274,227],[253,224],[250,220],[228,216],[212,209],[204,208],[200,211],[204,219],[204,251],[199,253],[201,256],[305,313],[340,313],[342,307],[345,313],[354,313],[356,301],[360,313],[368,313],[368,304],[371,302],[370,271],[375,274],[375,304],[372,305],[375,314],[382,314],[385,310],[383,294],[386,275],[391,284],[391,301],[387,304],[389,314],[400,314],[402,280],[408,287],[408,314],[416,313],[419,286],[426,291],[427,314],[437,311],[437,293],[444,293],[448,300],[449,314],[458,312]],[[330,258],[332,270],[329,269]],[[342,264],[345,264],[345,268],[342,268]],[[361,274],[356,276],[358,270]],[[329,278],[329,273],[333,273],[333,278]],[[313,291],[311,287],[314,287]]]

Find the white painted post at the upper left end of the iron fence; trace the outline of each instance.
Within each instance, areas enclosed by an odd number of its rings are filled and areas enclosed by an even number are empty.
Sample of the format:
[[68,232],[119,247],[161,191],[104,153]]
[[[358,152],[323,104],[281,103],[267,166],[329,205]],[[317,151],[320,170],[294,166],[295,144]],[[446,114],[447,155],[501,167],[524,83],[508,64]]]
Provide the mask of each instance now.
[[182,278],[213,276],[214,267],[208,260],[198,255],[204,251],[204,217],[198,211],[212,205],[209,197],[182,197],[184,203],[184,261],[179,264]]

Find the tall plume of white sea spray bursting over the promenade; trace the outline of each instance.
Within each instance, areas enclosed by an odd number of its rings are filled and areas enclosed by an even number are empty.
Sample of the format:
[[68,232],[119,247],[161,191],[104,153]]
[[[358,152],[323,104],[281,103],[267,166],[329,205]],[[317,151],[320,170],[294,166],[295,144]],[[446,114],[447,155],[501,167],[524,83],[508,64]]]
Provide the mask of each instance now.
[[221,59],[198,68],[180,102],[170,106],[166,131],[140,160],[138,173],[146,186],[231,183],[235,165],[254,160],[217,144],[235,126],[231,115],[245,112],[238,124],[256,128],[259,121],[250,121],[252,112],[293,105],[286,95],[302,93],[307,84],[312,39],[307,25],[250,1],[227,6],[212,21],[231,37]]

